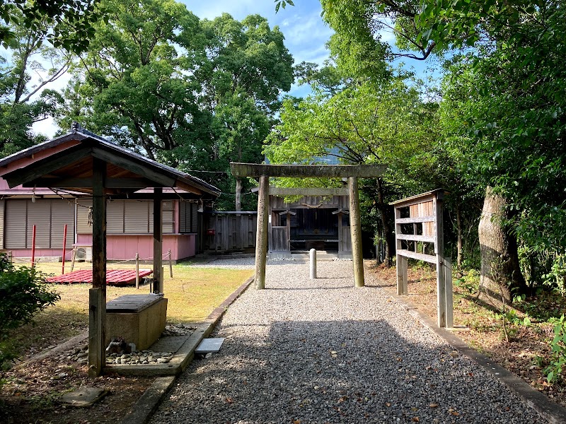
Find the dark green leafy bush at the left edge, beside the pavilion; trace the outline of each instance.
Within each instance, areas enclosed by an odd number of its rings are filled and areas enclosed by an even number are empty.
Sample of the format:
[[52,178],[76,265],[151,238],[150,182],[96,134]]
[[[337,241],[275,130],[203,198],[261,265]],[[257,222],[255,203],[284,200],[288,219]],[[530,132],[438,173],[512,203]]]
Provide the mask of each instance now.
[[59,298],[49,290],[40,271],[27,266],[16,268],[6,254],[0,254],[0,366],[12,358],[2,343],[10,331],[30,322],[37,312],[54,305]]

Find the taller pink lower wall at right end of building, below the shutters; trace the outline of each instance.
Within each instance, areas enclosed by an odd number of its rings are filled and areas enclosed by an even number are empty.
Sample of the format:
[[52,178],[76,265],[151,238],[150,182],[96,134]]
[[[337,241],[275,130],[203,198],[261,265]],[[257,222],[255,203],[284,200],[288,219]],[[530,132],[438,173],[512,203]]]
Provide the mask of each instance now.
[[[79,234],[76,236],[77,245],[91,245],[91,234]],[[195,256],[195,245],[197,235],[195,234],[171,234],[163,235],[163,256],[171,249],[171,257],[174,261]],[[149,235],[107,235],[106,257],[112,259],[126,260],[135,259],[139,253],[139,259],[153,259],[154,237]]]

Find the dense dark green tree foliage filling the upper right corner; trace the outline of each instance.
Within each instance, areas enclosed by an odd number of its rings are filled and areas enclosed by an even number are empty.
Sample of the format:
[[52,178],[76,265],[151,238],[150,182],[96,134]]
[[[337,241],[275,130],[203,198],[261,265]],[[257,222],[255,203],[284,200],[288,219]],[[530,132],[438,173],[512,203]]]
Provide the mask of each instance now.
[[[493,188],[487,193],[503,199],[500,216],[507,218],[499,225],[511,244],[518,237],[526,252],[550,251],[560,259],[566,240],[564,1],[321,3],[337,31],[330,45],[354,71],[371,69],[375,55],[391,56],[376,37],[385,27],[398,36],[399,54],[416,59],[434,52],[456,54],[444,108],[458,108],[444,117],[458,117],[461,125],[454,126],[454,119],[441,124],[453,128],[445,134],[460,143],[451,151],[466,153],[470,172],[463,177],[470,178],[465,183],[481,180],[483,187]],[[521,286],[511,273],[499,279]]]

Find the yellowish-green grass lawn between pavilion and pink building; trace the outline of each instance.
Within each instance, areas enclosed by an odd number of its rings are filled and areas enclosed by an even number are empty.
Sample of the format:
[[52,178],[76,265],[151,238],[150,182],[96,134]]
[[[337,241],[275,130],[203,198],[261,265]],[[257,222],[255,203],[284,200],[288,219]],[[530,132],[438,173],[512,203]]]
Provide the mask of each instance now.
[[[90,266],[88,263],[79,263],[74,269],[88,269]],[[151,265],[141,265],[140,268],[151,269]],[[37,264],[37,269],[47,274],[60,275],[62,264],[45,262]],[[134,265],[108,264],[108,269],[134,269]],[[71,271],[70,264],[66,264],[65,271]],[[173,278],[170,278],[166,266],[163,293],[168,299],[168,323],[202,321],[252,275],[253,269],[204,269],[185,263],[174,265]],[[88,289],[91,285],[52,284],[50,288],[61,295],[61,300],[37,314],[32,324],[13,331],[9,339],[10,346],[4,348],[9,348],[18,355],[25,352],[39,353],[88,328]],[[106,298],[112,300],[121,295],[144,293],[149,293],[149,285],[140,285],[139,289],[135,286],[108,285]]]

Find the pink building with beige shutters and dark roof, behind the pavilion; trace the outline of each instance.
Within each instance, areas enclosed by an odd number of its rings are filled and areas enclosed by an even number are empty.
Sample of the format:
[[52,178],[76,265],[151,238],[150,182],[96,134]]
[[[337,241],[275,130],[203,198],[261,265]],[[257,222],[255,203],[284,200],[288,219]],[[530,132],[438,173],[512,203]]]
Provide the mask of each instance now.
[[[10,188],[2,175],[35,161],[76,146],[84,139],[105,139],[77,128],[69,134],[30,147],[0,160],[0,250],[13,257],[30,257],[33,225],[36,228],[35,256],[61,257],[64,226],[67,225],[66,258],[77,247],[88,259],[91,252],[92,199],[88,194],[47,187]],[[125,148],[112,148],[158,165],[167,172],[183,175],[190,187],[163,188],[163,252],[171,249],[173,260],[193,257],[202,245],[202,211],[211,204],[219,189],[202,179],[184,174],[144,158]],[[146,187],[131,194],[109,196],[107,203],[108,260],[153,258],[153,189]]]

